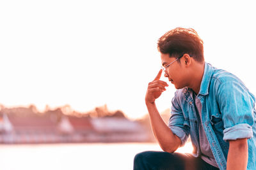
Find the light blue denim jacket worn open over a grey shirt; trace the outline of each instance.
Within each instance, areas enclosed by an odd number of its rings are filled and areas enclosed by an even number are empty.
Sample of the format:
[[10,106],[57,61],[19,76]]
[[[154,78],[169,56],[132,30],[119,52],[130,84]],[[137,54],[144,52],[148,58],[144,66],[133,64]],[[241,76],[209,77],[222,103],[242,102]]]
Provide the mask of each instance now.
[[[175,92],[168,127],[184,145],[190,135],[193,155],[200,157],[198,117],[192,91],[188,87]],[[247,169],[256,169],[255,96],[234,74],[205,63],[198,98],[202,104],[202,124],[214,159],[227,169],[228,140],[248,138]]]

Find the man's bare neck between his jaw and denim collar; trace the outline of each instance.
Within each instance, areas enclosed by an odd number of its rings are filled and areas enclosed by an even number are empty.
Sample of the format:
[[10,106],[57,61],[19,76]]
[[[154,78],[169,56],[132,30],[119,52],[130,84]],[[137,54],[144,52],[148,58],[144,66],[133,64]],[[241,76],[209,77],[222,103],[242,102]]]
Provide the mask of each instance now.
[[193,71],[191,71],[191,83],[188,87],[192,89],[196,95],[200,92],[200,86],[204,76],[204,64],[205,62],[203,64],[195,63]]

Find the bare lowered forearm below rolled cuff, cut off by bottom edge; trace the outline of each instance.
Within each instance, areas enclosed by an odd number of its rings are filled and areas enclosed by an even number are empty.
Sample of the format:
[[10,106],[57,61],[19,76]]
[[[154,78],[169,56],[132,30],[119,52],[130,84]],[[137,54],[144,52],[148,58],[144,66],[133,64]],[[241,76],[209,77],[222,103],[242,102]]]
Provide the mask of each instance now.
[[237,139],[229,143],[227,170],[245,170],[248,163],[247,139]]

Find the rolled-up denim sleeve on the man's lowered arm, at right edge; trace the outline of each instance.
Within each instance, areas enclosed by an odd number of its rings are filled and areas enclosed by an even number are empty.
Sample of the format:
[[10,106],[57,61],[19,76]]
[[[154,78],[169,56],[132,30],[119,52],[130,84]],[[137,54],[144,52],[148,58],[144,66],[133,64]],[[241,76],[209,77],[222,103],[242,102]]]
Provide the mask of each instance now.
[[255,99],[241,82],[226,81],[218,89],[218,103],[223,120],[223,140],[252,138]]

